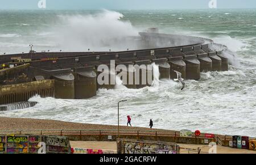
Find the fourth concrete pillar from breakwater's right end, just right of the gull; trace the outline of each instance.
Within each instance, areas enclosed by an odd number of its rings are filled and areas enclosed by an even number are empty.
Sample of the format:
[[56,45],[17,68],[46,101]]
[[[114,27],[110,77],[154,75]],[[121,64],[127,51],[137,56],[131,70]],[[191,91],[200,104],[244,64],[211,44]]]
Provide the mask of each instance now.
[[187,79],[200,79],[200,61],[197,60],[196,55],[184,56],[186,63],[186,78]]

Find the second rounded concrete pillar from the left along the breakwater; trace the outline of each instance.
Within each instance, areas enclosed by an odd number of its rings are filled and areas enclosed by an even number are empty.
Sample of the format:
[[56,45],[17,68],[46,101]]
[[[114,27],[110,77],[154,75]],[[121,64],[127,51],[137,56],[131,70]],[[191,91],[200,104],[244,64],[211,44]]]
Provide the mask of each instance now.
[[94,67],[75,69],[75,99],[88,99],[96,96],[97,74]]

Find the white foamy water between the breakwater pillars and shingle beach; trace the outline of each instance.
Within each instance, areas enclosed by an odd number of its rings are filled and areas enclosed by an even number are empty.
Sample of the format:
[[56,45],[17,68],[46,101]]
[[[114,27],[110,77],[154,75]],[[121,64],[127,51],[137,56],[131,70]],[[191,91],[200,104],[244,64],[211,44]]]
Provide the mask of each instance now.
[[[164,80],[159,81],[158,88],[152,86],[142,89],[101,89],[96,97],[85,100],[35,96],[30,99],[39,102],[35,107],[1,115],[116,125],[117,102],[127,99],[128,101],[120,106],[121,125],[125,125],[126,115],[130,114],[135,126],[147,126],[148,120],[153,119],[155,128],[200,129],[212,133],[255,136],[256,129],[246,127],[253,124],[254,112],[251,115],[243,113],[243,116],[237,116],[241,109],[243,112],[251,111],[255,103],[251,94],[255,92],[255,87],[248,88],[245,95],[228,92],[241,88],[242,84],[230,84],[232,81],[238,81],[237,78],[241,76],[238,70],[202,75],[205,79],[201,82],[186,81],[187,88],[184,91],[180,91],[178,83]],[[242,76],[242,79],[245,78]],[[222,114],[221,117],[219,114]],[[246,123],[236,124],[241,120]]]

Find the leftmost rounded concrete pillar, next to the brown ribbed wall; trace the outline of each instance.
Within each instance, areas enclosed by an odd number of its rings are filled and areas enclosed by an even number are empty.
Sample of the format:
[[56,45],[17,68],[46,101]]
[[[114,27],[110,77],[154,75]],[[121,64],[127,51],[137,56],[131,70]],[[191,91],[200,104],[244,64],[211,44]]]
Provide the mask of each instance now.
[[72,73],[53,75],[56,99],[75,99],[74,75]]

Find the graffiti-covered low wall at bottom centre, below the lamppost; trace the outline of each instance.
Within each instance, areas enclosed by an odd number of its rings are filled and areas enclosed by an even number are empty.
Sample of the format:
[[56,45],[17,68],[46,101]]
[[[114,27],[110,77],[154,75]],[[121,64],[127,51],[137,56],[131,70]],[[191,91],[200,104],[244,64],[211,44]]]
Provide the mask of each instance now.
[[125,154],[177,154],[178,148],[176,144],[123,141]]

